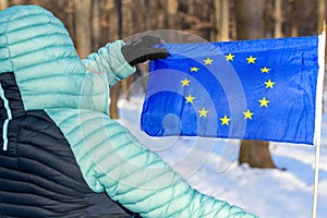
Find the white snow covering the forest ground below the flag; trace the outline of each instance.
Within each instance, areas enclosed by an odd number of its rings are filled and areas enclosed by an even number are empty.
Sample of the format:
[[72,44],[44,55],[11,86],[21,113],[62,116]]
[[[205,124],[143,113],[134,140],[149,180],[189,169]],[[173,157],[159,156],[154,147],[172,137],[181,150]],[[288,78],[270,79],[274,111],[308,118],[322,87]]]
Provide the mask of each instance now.
[[[198,191],[263,218],[312,217],[315,147],[270,143],[280,169],[238,165],[240,142],[201,137],[150,137],[140,129],[144,96],[119,101],[120,120],[144,145]],[[281,170],[283,169],[283,170]],[[324,116],[317,218],[327,217],[327,116]]]

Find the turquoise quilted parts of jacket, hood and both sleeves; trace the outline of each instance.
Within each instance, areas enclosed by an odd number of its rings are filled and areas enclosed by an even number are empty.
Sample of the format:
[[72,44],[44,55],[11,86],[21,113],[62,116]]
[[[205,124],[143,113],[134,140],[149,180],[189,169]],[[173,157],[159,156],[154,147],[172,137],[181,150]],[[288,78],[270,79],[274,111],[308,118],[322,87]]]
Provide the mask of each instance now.
[[50,12],[35,5],[0,12],[0,73],[14,73],[26,111],[45,110],[58,125],[94,192],[142,217],[256,217],[192,189],[108,117],[108,87],[135,71],[123,45],[108,44],[81,61]]

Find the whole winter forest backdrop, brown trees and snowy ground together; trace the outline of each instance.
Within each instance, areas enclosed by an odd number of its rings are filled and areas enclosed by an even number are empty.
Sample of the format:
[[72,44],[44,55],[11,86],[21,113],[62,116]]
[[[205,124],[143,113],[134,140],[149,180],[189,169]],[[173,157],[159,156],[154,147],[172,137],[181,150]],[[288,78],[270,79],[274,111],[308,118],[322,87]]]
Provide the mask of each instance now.
[[[69,29],[81,58],[109,41],[129,41],[158,29],[182,33],[168,35],[168,43],[189,43],[194,36],[206,41],[278,38],[318,35],[327,19],[327,0],[0,0],[0,10],[15,4],[38,4],[51,11]],[[147,65],[140,64],[137,71],[137,76],[111,87],[110,116],[158,152],[195,189],[263,218],[311,217],[313,146],[150,138],[138,126]],[[140,82],[141,76],[145,78]],[[143,87],[141,94],[135,86]],[[189,153],[192,155],[186,157]],[[327,217],[325,116],[320,155],[317,217],[323,218]]]

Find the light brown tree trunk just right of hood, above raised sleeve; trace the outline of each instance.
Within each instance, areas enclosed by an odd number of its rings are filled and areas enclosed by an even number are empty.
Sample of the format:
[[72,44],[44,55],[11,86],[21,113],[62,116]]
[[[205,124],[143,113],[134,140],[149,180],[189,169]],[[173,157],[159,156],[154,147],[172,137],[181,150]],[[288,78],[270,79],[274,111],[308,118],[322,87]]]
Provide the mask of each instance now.
[[75,0],[76,50],[81,58],[90,53],[89,1]]

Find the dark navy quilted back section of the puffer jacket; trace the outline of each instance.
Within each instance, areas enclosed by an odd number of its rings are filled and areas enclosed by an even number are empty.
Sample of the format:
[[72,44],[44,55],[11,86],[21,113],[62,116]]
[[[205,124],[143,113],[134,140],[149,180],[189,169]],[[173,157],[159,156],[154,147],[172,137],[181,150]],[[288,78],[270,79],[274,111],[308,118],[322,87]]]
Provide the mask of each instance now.
[[[0,137],[0,217],[114,217],[128,214],[86,184],[68,141],[44,110],[24,111],[13,73],[0,74],[12,120]],[[8,118],[0,101],[0,132]]]

